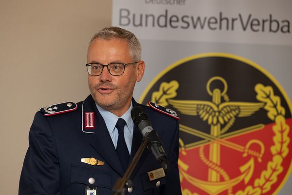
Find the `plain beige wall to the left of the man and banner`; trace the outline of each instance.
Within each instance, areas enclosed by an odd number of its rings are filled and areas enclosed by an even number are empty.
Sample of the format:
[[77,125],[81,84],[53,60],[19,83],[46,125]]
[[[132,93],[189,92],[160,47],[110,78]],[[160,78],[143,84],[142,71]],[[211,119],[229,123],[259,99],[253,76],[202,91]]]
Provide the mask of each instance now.
[[0,0],[0,195],[16,195],[35,112],[89,94],[86,47],[111,0]]

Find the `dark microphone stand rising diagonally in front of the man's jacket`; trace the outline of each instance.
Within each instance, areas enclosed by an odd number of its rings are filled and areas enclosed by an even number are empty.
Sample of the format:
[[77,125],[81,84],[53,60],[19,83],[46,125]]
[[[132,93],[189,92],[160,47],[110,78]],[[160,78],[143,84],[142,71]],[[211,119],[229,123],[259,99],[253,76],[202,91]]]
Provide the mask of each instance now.
[[122,178],[119,178],[116,183],[114,184],[111,195],[125,195],[125,189],[126,187],[132,187],[132,181],[129,180],[130,175],[134,171],[134,168],[136,167],[142,153],[144,152],[146,146],[149,144],[149,139],[146,137],[143,138],[143,141],[133,157],[133,160],[131,161],[130,165],[127,168],[127,171],[125,172],[124,176]]

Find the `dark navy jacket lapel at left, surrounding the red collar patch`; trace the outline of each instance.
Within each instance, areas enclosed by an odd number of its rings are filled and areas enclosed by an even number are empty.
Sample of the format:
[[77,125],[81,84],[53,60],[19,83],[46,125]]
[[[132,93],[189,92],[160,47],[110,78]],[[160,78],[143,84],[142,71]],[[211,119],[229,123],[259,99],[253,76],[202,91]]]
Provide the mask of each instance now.
[[[86,129],[85,116],[86,113],[91,112],[94,112],[94,129]],[[123,176],[124,169],[120,163],[120,159],[110,138],[108,128],[104,119],[97,110],[91,95],[83,102],[82,116],[82,131],[84,133],[94,134],[93,138],[91,139],[91,146],[100,154],[100,156],[105,159],[105,161],[113,170],[115,170],[120,176]]]

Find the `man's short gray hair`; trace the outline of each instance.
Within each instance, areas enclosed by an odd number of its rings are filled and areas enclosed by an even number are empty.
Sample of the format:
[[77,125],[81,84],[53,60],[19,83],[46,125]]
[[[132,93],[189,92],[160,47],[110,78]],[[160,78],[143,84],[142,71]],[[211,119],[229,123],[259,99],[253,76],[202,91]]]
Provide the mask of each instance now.
[[123,28],[119,28],[116,26],[104,28],[101,31],[97,32],[90,40],[89,46],[94,39],[122,39],[128,42],[130,56],[134,60],[134,62],[138,62],[141,60],[141,44],[136,36],[128,30]]

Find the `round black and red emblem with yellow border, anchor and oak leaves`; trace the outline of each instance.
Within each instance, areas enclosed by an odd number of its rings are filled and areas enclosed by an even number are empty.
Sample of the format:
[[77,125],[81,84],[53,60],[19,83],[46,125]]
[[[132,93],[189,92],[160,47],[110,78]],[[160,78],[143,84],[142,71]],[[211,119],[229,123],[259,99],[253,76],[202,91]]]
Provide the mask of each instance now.
[[292,106],[256,63],[231,54],[182,59],[140,99],[180,119],[183,195],[276,194],[292,165]]

